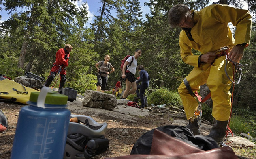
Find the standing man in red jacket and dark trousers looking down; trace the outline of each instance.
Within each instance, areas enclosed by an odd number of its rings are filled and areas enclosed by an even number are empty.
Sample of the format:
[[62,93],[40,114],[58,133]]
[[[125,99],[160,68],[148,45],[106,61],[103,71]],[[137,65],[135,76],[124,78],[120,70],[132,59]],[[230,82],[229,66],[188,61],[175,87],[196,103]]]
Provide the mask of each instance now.
[[47,80],[45,81],[45,86],[49,87],[53,79],[55,78],[56,74],[60,73],[60,86],[58,93],[61,94],[62,88],[64,84],[66,83],[66,67],[68,66],[68,59],[70,56],[70,52],[72,50],[72,46],[70,44],[65,44],[64,48],[59,49],[56,52],[56,60],[53,63],[53,67],[51,69],[50,75],[47,77]]

